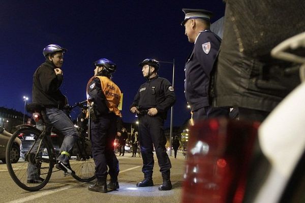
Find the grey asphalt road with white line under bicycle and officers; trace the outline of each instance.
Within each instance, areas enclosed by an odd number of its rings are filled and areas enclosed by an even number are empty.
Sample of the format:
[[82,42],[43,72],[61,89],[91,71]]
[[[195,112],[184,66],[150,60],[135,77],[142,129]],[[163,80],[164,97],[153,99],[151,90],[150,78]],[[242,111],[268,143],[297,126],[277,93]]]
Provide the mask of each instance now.
[[142,158],[138,155],[131,157],[130,153],[117,158],[120,166],[119,189],[108,193],[88,191],[87,187],[93,182],[80,183],[72,177],[64,177],[62,172],[53,173],[49,183],[40,191],[28,192],[13,182],[6,164],[0,163],[0,202],[181,202],[182,176],[185,170],[185,159],[181,153],[178,153],[177,159],[170,157],[173,189],[169,191],[158,190],[158,186],[162,184],[162,177],[156,155],[153,174],[155,186],[143,188],[136,187],[136,183],[143,179]]

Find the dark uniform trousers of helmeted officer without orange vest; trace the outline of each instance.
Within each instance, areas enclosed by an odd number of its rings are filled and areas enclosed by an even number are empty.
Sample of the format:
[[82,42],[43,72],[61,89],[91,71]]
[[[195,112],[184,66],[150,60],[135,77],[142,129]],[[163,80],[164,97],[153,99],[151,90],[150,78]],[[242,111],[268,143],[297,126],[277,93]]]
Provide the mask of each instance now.
[[171,162],[166,153],[164,120],[159,116],[139,115],[139,144],[143,159],[142,172],[144,178],[151,179],[154,168],[154,147],[164,180],[170,179]]

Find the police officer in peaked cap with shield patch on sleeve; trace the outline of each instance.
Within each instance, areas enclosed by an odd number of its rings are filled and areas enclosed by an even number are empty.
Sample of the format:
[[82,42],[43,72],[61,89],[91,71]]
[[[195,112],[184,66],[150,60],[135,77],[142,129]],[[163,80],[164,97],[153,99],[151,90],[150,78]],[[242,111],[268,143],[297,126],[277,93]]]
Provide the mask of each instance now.
[[208,99],[210,73],[213,68],[221,39],[211,32],[212,13],[203,9],[182,9],[185,20],[185,35],[194,47],[185,65],[185,96],[191,106],[194,122],[229,115],[229,108],[211,108]]

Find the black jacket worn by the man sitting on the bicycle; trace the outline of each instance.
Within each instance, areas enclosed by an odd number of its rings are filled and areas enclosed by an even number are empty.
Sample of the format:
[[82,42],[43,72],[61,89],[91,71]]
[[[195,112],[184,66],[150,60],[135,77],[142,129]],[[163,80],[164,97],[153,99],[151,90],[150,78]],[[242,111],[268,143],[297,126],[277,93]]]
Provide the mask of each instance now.
[[45,107],[63,108],[66,96],[60,92],[63,75],[56,75],[56,67],[50,61],[42,63],[33,75],[32,100]]

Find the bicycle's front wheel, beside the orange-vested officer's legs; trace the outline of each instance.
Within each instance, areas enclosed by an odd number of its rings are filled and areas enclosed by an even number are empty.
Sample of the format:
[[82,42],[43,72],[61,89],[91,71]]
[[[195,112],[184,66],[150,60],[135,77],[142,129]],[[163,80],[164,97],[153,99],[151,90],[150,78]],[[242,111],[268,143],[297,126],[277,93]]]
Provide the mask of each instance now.
[[78,140],[73,152],[76,155],[75,160],[70,160],[70,166],[75,172],[75,174],[72,174],[73,178],[81,182],[93,181],[96,178],[96,165],[93,160],[90,141]]

